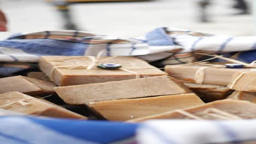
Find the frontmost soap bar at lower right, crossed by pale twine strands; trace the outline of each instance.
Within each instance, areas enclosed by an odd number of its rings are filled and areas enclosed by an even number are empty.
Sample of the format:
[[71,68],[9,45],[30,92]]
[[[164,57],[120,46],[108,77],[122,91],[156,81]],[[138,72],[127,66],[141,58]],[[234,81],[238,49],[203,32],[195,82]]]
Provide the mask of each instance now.
[[256,105],[244,100],[217,100],[211,103],[174,110],[158,115],[132,119],[141,122],[148,119],[253,119],[256,118]]

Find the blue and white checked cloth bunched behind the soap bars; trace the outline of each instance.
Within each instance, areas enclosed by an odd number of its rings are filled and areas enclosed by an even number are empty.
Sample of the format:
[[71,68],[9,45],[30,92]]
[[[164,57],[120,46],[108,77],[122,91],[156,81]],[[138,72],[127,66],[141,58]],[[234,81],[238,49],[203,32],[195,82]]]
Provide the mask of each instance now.
[[[118,38],[82,31],[44,31],[15,34],[0,41],[0,75],[36,67],[40,56],[138,56],[153,65],[197,61],[195,52],[236,54],[243,62],[256,58],[256,37],[225,37],[178,28],[156,28],[139,38]],[[28,63],[29,62],[29,63]]]

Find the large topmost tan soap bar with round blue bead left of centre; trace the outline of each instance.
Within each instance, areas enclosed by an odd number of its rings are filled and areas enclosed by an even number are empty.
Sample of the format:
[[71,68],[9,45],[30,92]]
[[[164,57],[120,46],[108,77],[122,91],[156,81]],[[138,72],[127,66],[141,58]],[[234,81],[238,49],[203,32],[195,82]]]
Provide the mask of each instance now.
[[[106,58],[110,59],[102,61]],[[88,56],[43,56],[39,60],[39,68],[59,86],[129,80],[135,79],[136,75],[140,77],[167,75],[164,71],[135,57],[101,57],[99,61],[102,62],[96,63],[91,69],[86,70],[86,66],[92,64],[92,60]],[[130,71],[97,68],[102,63],[121,64],[121,68]],[[65,65],[66,67],[63,67]],[[69,66],[67,67],[67,65]]]

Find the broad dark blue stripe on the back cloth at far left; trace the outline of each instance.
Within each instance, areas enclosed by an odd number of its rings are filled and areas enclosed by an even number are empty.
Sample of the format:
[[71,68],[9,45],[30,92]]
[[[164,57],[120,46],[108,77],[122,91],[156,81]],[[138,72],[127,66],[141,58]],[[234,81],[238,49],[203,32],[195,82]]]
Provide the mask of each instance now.
[[52,39],[11,39],[0,41],[0,46],[21,49],[37,56],[83,56],[88,44]]

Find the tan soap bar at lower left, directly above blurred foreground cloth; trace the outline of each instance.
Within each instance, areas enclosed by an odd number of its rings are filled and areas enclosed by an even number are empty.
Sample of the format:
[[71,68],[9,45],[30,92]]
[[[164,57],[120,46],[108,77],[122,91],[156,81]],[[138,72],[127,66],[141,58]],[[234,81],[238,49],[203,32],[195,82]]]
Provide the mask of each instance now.
[[20,92],[9,92],[0,94],[0,109],[25,113],[28,115],[60,117],[60,118],[82,118],[86,117],[68,111],[46,100],[37,99]]

